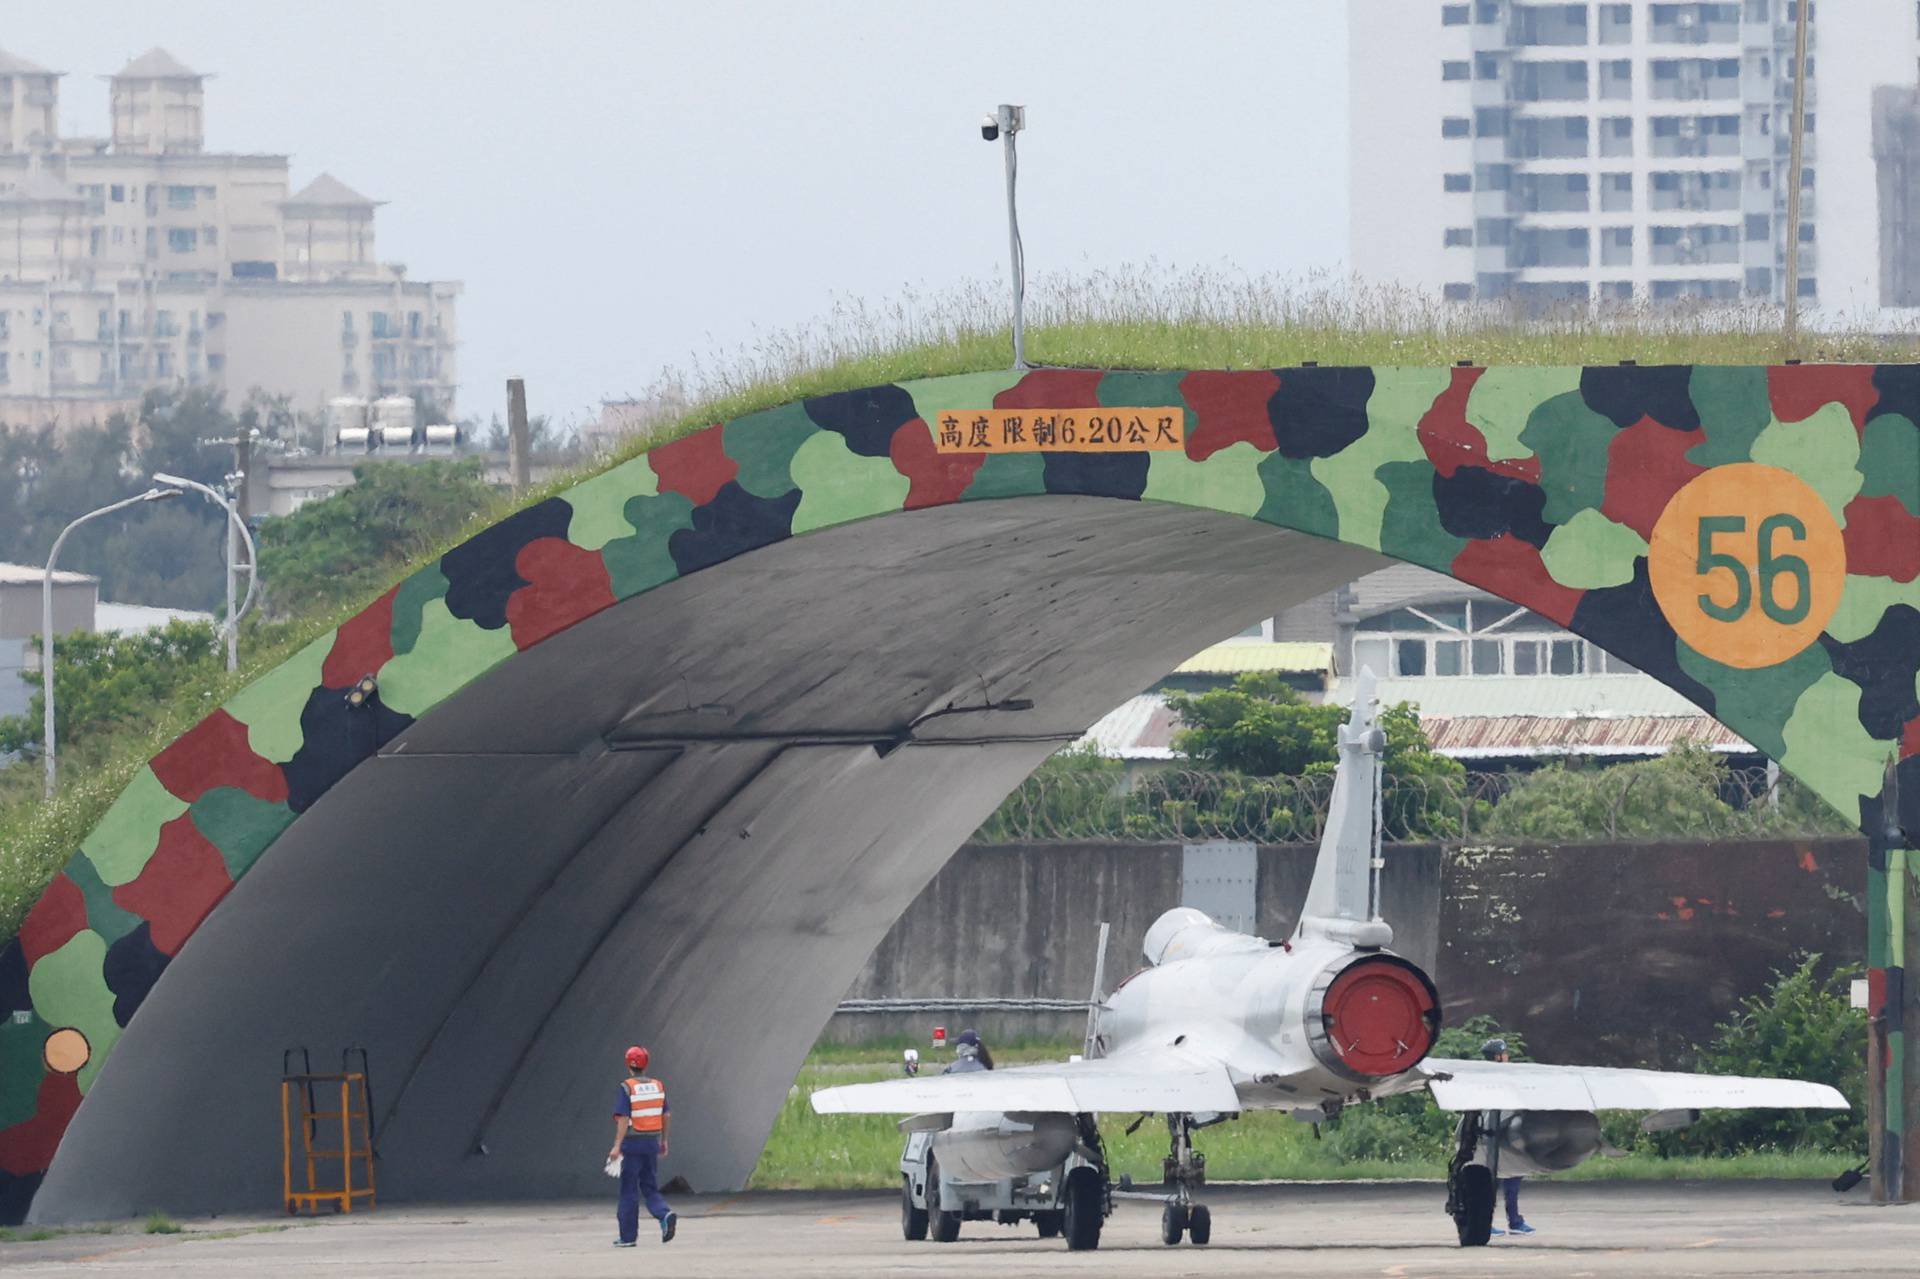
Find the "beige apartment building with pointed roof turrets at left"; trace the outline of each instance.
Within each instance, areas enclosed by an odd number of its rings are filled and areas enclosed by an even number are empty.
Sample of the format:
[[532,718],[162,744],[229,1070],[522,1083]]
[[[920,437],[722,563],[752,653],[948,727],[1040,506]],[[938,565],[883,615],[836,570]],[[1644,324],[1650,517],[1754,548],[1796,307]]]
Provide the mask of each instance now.
[[296,409],[413,394],[451,413],[455,282],[374,253],[376,202],[286,156],[205,150],[205,77],[109,81],[111,136],[60,134],[60,73],[0,52],[0,422],[71,424],[152,388]]

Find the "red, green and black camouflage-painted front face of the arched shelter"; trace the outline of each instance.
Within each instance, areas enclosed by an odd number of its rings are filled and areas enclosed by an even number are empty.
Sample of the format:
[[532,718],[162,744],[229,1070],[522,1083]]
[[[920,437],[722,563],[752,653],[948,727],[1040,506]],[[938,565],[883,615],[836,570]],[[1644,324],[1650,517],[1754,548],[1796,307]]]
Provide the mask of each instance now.
[[[929,430],[962,409],[1094,405],[1185,405],[1185,449],[941,453]],[[1647,574],[1674,492],[1743,461],[1801,476],[1845,534],[1839,611],[1759,670],[1680,641]],[[1448,572],[1680,689],[1860,822],[1878,820],[1899,759],[1903,824],[1920,830],[1920,367],[1044,369],[820,396],[511,515],[142,768],[0,951],[0,1202],[25,1210],[121,1029],[234,881],[442,699],[620,599],[772,542],[1039,494],[1208,507]],[[378,705],[349,718],[342,691],[369,672]],[[1872,1001],[1899,1008],[1884,860]],[[61,1074],[46,1041],[69,1027],[88,1056]]]

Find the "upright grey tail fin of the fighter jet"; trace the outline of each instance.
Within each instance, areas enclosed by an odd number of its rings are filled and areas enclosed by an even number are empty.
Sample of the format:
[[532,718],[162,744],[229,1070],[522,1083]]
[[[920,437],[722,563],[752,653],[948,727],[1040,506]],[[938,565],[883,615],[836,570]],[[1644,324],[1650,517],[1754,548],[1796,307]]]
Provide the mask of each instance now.
[[1327,826],[1300,908],[1296,935],[1302,937],[1331,937],[1356,947],[1394,941],[1394,929],[1380,918],[1375,874],[1380,858],[1380,764],[1386,759],[1377,684],[1371,668],[1354,678],[1354,709],[1340,726]]

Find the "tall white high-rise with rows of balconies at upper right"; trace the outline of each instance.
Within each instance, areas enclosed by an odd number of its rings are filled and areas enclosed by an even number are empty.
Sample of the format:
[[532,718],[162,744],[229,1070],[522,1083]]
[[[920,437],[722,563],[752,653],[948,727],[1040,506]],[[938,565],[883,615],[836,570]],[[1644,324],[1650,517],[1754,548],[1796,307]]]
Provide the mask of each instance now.
[[[1797,8],[1350,0],[1356,273],[1459,302],[1778,300]],[[1920,4],[1809,2],[1805,303],[1920,305],[1916,79]]]

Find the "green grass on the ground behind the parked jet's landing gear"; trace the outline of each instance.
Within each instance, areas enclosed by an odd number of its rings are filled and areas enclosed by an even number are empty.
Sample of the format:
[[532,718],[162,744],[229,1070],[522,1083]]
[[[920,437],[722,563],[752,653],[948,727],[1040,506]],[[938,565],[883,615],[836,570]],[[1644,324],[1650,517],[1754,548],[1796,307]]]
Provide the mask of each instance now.
[[[904,1047],[904,1045],[902,1045]],[[995,1047],[1002,1066],[1064,1060],[1071,1045]],[[866,1060],[862,1062],[862,1052]],[[837,1045],[806,1058],[787,1100],[774,1120],[766,1150],[753,1171],[749,1189],[849,1191],[887,1189],[900,1179],[904,1137],[895,1116],[852,1114],[818,1116],[808,1104],[814,1089],[839,1083],[866,1083],[899,1077],[897,1049],[851,1049]],[[945,1062],[927,1060],[929,1070]],[[1160,1183],[1160,1160],[1167,1152],[1167,1129],[1158,1118],[1146,1120],[1131,1137],[1125,1127],[1135,1116],[1102,1116],[1100,1137],[1116,1175],[1131,1175],[1144,1185]],[[1194,1145],[1206,1154],[1208,1177],[1215,1181],[1367,1181],[1427,1177],[1446,1179],[1446,1148],[1436,1146],[1415,1158],[1342,1160],[1331,1139],[1315,1139],[1313,1127],[1283,1112],[1250,1112],[1229,1123],[1202,1129]],[[1567,1181],[1734,1181],[1788,1179],[1826,1181],[1859,1158],[1836,1150],[1764,1150],[1728,1156],[1659,1156],[1634,1152],[1624,1158],[1590,1158],[1557,1179]]]

